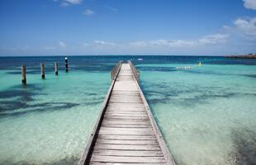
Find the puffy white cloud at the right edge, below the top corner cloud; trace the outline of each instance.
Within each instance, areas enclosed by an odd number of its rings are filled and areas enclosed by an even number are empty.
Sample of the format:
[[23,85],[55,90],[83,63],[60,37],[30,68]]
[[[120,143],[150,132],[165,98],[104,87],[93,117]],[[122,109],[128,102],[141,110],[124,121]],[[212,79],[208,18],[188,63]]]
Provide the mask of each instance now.
[[256,17],[254,18],[238,18],[234,22],[235,28],[252,38],[256,38]]

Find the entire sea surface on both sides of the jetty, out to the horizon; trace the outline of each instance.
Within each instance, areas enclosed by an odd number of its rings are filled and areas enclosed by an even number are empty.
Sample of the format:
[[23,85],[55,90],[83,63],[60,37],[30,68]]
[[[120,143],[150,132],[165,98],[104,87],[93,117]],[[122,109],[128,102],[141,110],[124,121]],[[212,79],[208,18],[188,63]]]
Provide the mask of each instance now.
[[111,68],[127,59],[178,165],[256,164],[255,59],[111,55],[70,56],[69,73],[64,56],[0,57],[0,164],[77,164]]

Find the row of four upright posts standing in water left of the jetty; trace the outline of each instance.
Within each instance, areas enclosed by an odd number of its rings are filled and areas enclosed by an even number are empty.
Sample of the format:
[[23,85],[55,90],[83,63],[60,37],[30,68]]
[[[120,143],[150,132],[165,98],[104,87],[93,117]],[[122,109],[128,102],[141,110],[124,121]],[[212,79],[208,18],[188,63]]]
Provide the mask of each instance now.
[[[65,68],[66,68],[66,73],[69,72],[69,63],[68,63],[68,58],[65,58]],[[45,64],[41,63],[40,64],[40,70],[41,70],[41,78],[45,79]],[[58,76],[58,63],[55,62],[55,75]],[[21,66],[21,82],[22,84],[26,84],[26,66]]]

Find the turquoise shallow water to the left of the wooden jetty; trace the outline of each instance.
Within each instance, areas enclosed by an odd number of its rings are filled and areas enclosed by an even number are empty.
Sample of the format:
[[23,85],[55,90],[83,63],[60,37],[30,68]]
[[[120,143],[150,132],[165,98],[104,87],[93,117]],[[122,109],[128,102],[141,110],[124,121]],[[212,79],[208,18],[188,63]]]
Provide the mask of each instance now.
[[77,164],[110,74],[27,74],[22,87],[21,75],[7,72],[0,71],[0,164]]

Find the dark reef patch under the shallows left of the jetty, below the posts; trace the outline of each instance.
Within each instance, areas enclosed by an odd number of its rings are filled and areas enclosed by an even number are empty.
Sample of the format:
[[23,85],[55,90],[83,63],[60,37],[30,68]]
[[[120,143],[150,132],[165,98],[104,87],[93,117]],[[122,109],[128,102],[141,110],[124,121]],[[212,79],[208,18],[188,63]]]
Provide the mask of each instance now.
[[[35,96],[45,95],[42,93],[43,88],[36,84],[28,84],[26,86],[14,86],[0,92],[0,117],[17,117],[32,112],[43,111],[63,111],[69,110],[73,106],[79,106],[73,102],[40,102],[35,101]],[[95,106],[100,104],[104,97],[97,96],[94,92],[84,92],[85,95],[95,96],[93,100],[83,101],[83,105]]]

